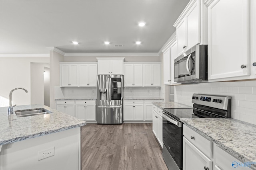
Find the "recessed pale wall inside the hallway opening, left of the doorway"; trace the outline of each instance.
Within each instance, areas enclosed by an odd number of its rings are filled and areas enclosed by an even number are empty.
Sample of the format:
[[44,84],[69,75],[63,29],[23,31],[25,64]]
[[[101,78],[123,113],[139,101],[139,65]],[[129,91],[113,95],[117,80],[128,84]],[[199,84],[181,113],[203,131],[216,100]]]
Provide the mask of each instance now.
[[30,64],[31,104],[44,104],[44,67],[49,64]]

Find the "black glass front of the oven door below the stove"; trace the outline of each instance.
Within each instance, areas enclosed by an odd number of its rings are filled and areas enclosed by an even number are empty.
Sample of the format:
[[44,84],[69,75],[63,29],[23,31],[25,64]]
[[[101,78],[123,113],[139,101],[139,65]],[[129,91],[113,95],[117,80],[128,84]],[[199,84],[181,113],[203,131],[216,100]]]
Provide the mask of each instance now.
[[172,158],[182,168],[182,128],[163,117],[163,143]]

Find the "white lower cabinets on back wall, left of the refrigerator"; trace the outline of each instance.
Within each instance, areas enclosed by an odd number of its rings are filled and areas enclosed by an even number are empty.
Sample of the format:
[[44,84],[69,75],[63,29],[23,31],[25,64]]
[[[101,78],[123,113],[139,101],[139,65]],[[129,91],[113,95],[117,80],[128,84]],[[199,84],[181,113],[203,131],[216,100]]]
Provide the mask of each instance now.
[[56,101],[56,109],[85,121],[96,121],[95,100]]

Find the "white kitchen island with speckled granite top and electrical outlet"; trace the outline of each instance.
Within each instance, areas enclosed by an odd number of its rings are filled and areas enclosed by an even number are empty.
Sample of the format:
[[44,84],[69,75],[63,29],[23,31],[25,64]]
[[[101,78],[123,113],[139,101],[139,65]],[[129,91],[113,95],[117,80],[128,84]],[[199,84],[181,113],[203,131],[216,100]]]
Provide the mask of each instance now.
[[7,108],[0,107],[0,170],[80,170],[85,121],[44,105],[16,106],[14,111],[44,108],[52,113],[8,117]]

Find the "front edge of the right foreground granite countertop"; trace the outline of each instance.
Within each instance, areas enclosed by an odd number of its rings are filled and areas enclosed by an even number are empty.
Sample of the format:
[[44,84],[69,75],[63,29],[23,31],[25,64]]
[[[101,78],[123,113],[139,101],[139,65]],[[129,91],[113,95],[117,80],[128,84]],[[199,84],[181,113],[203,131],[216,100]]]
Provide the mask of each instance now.
[[[180,119],[180,121],[182,121],[182,123],[184,123],[185,125],[187,125],[188,127],[190,127],[191,129],[193,129],[194,131],[196,131],[197,133],[199,133],[200,135],[202,135],[203,137],[205,137],[206,139],[216,143],[217,145],[219,145],[222,149],[226,150],[226,152],[230,153],[232,156],[239,158],[240,160],[244,161],[244,162],[254,162],[254,160],[250,160],[248,158],[246,158],[244,155],[242,155],[239,152],[236,152],[235,150],[233,150],[232,148],[226,146],[224,143],[222,143],[221,141],[218,141],[218,139],[215,139],[213,137],[211,137],[209,134],[202,132],[200,129],[196,128],[194,125],[191,125],[190,123],[188,123],[186,121],[185,118]],[[242,122],[242,121],[241,121]],[[246,123],[246,122],[244,122]],[[256,167],[256,164],[252,164],[253,167]]]

